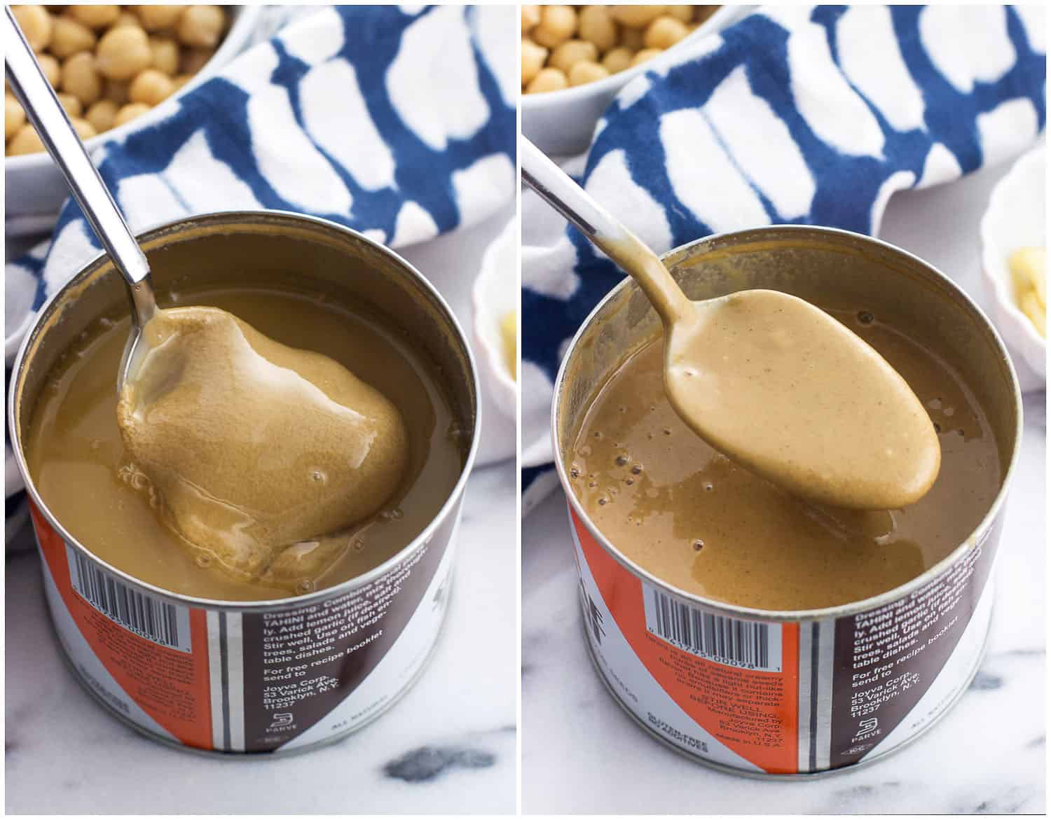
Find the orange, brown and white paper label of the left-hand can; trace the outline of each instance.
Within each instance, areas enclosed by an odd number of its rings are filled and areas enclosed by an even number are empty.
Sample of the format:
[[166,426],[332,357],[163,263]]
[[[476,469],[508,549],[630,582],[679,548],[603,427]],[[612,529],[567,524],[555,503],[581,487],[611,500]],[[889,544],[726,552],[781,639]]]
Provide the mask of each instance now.
[[66,544],[30,503],[74,667],[146,732],[198,749],[304,748],[364,724],[414,678],[444,619],[458,510],[371,583],[253,612],[174,603]]

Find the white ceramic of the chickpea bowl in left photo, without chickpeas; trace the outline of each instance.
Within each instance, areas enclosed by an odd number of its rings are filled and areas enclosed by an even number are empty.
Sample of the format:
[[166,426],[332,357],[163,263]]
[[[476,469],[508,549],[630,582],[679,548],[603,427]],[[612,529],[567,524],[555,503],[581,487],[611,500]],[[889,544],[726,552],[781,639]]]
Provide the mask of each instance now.
[[[227,8],[232,18],[230,30],[226,33],[226,37],[220,43],[215,54],[193,76],[192,80],[168,100],[179,99],[191,88],[218,73],[249,43],[252,29],[255,27],[263,7],[259,5],[231,5]],[[169,112],[169,109],[162,104],[149,113],[145,113],[119,128],[112,128],[98,136],[92,136],[84,145],[88,152],[95,151],[103,143],[109,140],[119,140],[125,134],[144,128],[166,117]],[[20,233],[47,230],[54,224],[55,217],[58,216],[62,203],[69,195],[62,174],[55,167],[51,157],[44,151],[5,157],[4,183],[5,222],[8,232],[11,232],[13,225],[16,226],[16,232]],[[19,223],[25,228],[20,230],[17,227]]]

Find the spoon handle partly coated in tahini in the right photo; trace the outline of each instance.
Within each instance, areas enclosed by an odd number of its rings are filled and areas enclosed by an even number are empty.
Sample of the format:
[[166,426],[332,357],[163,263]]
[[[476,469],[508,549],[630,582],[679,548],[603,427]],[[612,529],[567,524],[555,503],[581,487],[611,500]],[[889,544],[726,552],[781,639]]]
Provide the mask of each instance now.
[[686,295],[656,253],[528,139],[519,138],[518,147],[522,182],[630,273],[665,324],[691,310]]

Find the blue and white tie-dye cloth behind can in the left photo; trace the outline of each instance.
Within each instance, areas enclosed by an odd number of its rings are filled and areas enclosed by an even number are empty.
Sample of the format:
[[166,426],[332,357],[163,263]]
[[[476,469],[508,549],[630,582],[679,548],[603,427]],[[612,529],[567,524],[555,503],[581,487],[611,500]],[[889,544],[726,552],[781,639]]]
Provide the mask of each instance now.
[[[515,193],[516,12],[335,6],[297,20],[95,159],[132,230],[277,208],[391,247],[477,223]],[[34,312],[100,246],[76,204],[6,266],[9,366]],[[21,482],[5,456],[8,519]]]

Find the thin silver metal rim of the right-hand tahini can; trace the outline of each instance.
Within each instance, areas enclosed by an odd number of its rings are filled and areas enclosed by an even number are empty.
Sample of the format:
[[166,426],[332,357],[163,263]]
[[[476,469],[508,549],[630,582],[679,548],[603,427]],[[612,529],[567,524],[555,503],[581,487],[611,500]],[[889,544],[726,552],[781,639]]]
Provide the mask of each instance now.
[[[666,581],[659,579],[652,572],[643,569],[641,566],[636,564],[634,561],[624,555],[617,547],[602,534],[602,532],[595,526],[592,522],[591,517],[584,510],[583,506],[580,504],[579,499],[577,499],[576,493],[573,492],[572,486],[570,484],[569,476],[565,472],[565,465],[559,458],[558,453],[555,453],[555,469],[558,472],[558,480],[561,483],[562,490],[565,492],[566,499],[569,500],[570,508],[576,513],[580,522],[588,528],[589,533],[602,546],[610,555],[613,556],[618,564],[627,569],[630,572],[646,581],[654,586],[659,587],[662,590],[667,590],[675,595],[681,597],[684,601],[688,601],[694,604],[699,604],[709,610],[716,612],[726,613],[727,615],[734,617],[745,617],[751,621],[762,621],[762,622],[778,622],[778,623],[799,623],[799,622],[809,622],[809,621],[820,621],[823,618],[838,618],[847,615],[854,615],[859,612],[866,612],[888,604],[892,604],[906,595],[914,592],[920,587],[924,586],[928,582],[934,580],[940,574],[942,574],[946,569],[948,569],[952,564],[954,564],[964,553],[967,552],[974,544],[978,543],[982,539],[982,534],[988,531],[991,527],[993,520],[998,513],[1001,507],[1007,500],[1008,489],[1011,485],[1011,479],[1014,475],[1015,466],[1018,462],[1018,453],[1021,449],[1022,441],[1022,391],[1018,386],[1018,377],[1014,372],[1014,364],[1011,361],[1010,354],[1007,352],[1007,348],[1004,344],[1004,340],[1001,338],[1000,333],[996,331],[995,325],[989,320],[989,317],[985,315],[985,312],[975,303],[974,299],[963,290],[959,285],[956,285],[951,278],[944,274],[936,267],[930,262],[920,258],[913,253],[899,248],[897,245],[879,239],[874,236],[868,236],[863,233],[857,233],[854,231],[847,231],[842,228],[827,228],[823,226],[815,225],[770,225],[762,226],[758,228],[745,228],[739,231],[724,231],[722,233],[714,233],[708,236],[703,236],[698,239],[694,239],[683,245],[673,248],[666,253],[661,254],[661,259],[665,259],[677,253],[681,253],[688,249],[695,248],[697,246],[712,244],[715,241],[720,241],[724,239],[734,239],[738,237],[744,237],[746,235],[761,236],[764,233],[780,232],[780,233],[798,233],[800,235],[805,235],[807,233],[819,233],[827,234],[831,236],[840,236],[844,238],[850,238],[854,240],[861,240],[864,243],[872,244],[884,250],[890,251],[893,254],[905,257],[906,259],[918,264],[931,273],[933,273],[942,283],[946,285],[951,291],[953,291],[957,296],[962,297],[964,302],[974,312],[974,314],[982,319],[986,329],[990,332],[992,339],[996,344],[997,354],[1004,360],[1007,365],[1007,372],[1011,379],[1012,398],[1014,401],[1014,423],[1017,429],[1017,435],[1014,437],[1014,446],[1011,449],[1011,458],[1007,465],[1007,470],[1004,472],[1003,481],[1001,482],[1000,491],[996,493],[996,498],[993,499],[992,504],[986,511],[982,521],[978,522],[977,526],[968,535],[963,543],[955,547],[949,554],[939,561],[931,567],[921,572],[913,579],[910,579],[905,584],[902,584],[892,589],[888,589],[886,592],[881,592],[879,595],[872,595],[861,601],[850,602],[849,604],[842,604],[834,607],[822,607],[818,609],[800,609],[800,610],[768,610],[768,609],[756,609],[754,607],[743,607],[736,604],[727,604],[723,601],[716,601],[715,598],[704,597],[703,595],[698,595],[692,592],[686,592],[685,590],[679,589],[678,587],[668,584]],[[595,308],[588,314],[586,318],[580,323],[577,332],[573,335],[570,340],[569,345],[565,349],[565,354],[562,356],[562,361],[558,366],[558,374],[555,377],[555,390],[554,396],[551,402],[551,436],[552,441],[556,443],[558,441],[558,407],[559,407],[559,397],[563,391],[563,383],[565,377],[565,371],[573,353],[576,351],[580,339],[582,338],[584,331],[588,330],[598,313],[613,299],[620,296],[624,291],[630,288],[637,287],[634,283],[634,279],[630,276],[625,276],[620,282],[615,285],[609,293],[603,296]]]

